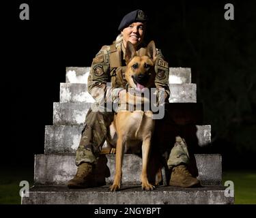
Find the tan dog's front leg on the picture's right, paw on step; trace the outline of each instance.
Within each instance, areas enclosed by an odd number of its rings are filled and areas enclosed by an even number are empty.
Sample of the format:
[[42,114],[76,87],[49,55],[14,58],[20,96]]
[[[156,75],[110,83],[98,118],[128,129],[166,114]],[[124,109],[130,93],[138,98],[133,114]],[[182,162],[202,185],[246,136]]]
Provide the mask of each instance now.
[[141,187],[143,190],[153,190],[154,185],[151,185],[147,180],[147,166],[149,162],[150,155],[150,143],[151,136],[147,136],[142,143],[142,173],[141,173]]

